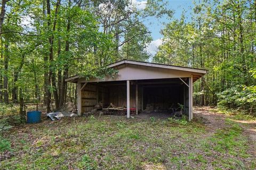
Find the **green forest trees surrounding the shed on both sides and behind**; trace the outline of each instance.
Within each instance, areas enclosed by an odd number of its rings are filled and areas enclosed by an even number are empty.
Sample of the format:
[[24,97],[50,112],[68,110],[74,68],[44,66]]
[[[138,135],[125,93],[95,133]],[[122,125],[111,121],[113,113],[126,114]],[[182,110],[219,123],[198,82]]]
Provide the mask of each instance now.
[[[76,100],[67,77],[103,77],[115,72],[109,63],[132,59],[207,69],[195,84],[196,104],[255,112],[256,1],[195,2],[180,19],[167,3],[2,0],[0,101],[43,102],[50,111]],[[154,56],[145,24],[152,17],[169,19]]]

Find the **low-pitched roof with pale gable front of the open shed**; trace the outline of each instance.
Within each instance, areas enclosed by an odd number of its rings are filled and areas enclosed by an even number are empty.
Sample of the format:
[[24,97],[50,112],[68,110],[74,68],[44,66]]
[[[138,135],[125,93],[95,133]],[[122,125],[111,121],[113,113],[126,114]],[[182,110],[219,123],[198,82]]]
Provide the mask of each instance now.
[[66,82],[109,82],[116,80],[138,80],[138,79],[156,79],[156,78],[178,78],[193,76],[193,82],[206,74],[205,69],[172,66],[167,64],[158,64],[150,62],[141,62],[133,60],[122,60],[108,65],[108,68],[115,68],[118,74],[114,77],[106,76],[104,79],[90,78],[83,76],[72,76],[66,78]]

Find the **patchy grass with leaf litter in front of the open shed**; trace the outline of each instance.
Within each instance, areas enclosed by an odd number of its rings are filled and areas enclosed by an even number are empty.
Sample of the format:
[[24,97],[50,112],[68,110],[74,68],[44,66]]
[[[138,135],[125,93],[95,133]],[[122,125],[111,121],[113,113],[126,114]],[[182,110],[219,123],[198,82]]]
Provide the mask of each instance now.
[[26,125],[5,134],[14,156],[0,169],[253,169],[242,128],[226,124],[214,134],[183,119],[92,116]]

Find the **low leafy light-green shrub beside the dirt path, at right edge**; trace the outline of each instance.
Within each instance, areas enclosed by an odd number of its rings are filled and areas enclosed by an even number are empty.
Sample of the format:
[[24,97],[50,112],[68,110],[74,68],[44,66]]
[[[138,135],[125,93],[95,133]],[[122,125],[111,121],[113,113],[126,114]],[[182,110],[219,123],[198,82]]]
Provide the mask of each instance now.
[[256,111],[256,86],[236,86],[218,94],[218,106],[231,109]]

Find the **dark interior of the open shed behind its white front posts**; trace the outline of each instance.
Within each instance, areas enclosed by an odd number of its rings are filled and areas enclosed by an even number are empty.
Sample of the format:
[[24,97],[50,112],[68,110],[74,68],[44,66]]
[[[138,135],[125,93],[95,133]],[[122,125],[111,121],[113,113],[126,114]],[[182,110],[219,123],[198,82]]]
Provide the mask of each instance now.
[[[188,78],[182,78],[188,84]],[[188,87],[179,78],[130,80],[130,108],[136,108],[138,86],[138,111],[143,113],[183,111],[188,114]],[[126,108],[126,81],[87,83],[82,91],[82,112],[95,108],[108,108],[110,103]],[[133,112],[132,112],[133,113]]]

